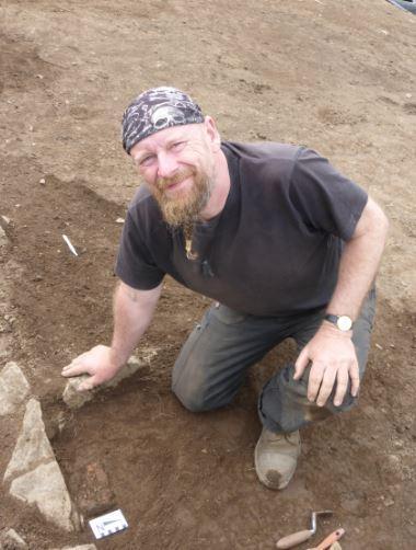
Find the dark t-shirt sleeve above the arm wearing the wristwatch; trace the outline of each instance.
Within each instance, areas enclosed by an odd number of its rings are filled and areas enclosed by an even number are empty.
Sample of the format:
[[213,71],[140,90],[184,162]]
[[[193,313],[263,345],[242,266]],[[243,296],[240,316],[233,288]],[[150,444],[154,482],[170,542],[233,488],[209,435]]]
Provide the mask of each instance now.
[[348,241],[367,204],[368,195],[323,157],[300,149],[291,174],[290,198],[303,222]]

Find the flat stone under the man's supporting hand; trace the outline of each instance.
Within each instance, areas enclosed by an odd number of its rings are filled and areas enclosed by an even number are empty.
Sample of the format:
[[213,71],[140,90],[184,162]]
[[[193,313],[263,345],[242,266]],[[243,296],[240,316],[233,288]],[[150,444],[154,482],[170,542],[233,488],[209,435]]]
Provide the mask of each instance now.
[[151,357],[157,354],[154,350],[147,350],[143,354],[143,358],[130,357],[128,363],[116,374],[112,380],[101,385],[90,391],[78,391],[81,382],[89,378],[89,375],[74,376],[70,378],[65,387],[62,393],[62,400],[70,409],[79,409],[88,401],[94,398],[94,394],[105,388],[115,388],[122,380],[134,375],[140,367],[143,367],[150,363]]

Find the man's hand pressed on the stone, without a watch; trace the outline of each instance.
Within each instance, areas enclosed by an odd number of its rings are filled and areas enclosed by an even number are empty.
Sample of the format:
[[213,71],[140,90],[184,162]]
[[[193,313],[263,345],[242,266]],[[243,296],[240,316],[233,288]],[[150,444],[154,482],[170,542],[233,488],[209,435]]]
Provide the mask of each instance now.
[[65,377],[90,375],[84,380],[79,391],[92,390],[95,386],[111,380],[119,370],[119,366],[112,360],[112,350],[105,345],[96,345],[89,352],[76,357],[72,363],[63,367],[61,375]]

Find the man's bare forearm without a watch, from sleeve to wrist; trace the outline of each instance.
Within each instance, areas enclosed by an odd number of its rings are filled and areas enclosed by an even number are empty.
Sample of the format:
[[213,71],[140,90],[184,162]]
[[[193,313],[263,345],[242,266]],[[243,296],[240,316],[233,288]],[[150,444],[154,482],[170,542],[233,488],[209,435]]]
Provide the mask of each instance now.
[[114,332],[112,363],[123,367],[153,317],[162,285],[151,290],[137,290],[120,283],[114,294]]

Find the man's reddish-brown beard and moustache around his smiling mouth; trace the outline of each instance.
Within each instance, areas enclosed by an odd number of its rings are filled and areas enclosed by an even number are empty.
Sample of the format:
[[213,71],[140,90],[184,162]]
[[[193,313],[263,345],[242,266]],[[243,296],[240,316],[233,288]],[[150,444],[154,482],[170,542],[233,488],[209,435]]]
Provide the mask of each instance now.
[[[169,185],[193,177],[190,188],[169,195]],[[213,180],[201,169],[184,168],[172,177],[158,177],[151,186],[153,197],[159,204],[163,218],[172,227],[186,227],[194,224],[206,207],[212,192]]]

